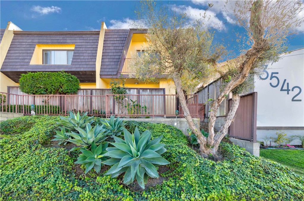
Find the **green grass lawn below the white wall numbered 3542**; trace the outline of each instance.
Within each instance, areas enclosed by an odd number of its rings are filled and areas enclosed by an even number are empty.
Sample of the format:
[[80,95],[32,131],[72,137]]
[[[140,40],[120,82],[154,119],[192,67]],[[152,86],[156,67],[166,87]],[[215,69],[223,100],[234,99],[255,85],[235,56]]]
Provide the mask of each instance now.
[[286,165],[295,173],[304,176],[304,150],[260,149],[260,156]]

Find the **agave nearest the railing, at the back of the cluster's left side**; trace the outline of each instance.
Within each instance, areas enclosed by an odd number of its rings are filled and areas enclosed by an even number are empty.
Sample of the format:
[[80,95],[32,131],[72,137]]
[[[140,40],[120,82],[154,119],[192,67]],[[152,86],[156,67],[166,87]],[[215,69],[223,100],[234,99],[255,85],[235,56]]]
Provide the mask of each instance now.
[[92,124],[94,120],[92,120],[93,116],[87,117],[88,112],[84,113],[82,116],[80,116],[79,112],[77,114],[70,111],[70,115],[68,117],[59,116],[61,119],[60,122],[58,122],[60,125],[62,125],[64,128],[76,131],[76,128],[82,128],[85,129],[85,126],[87,123]]

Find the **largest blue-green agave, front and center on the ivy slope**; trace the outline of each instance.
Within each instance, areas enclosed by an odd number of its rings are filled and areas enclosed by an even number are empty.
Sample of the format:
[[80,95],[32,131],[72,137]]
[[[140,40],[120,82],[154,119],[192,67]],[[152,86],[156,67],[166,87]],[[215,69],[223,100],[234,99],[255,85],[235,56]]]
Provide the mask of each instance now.
[[123,128],[125,140],[113,136],[115,143],[110,143],[114,147],[108,147],[105,156],[111,157],[105,161],[106,165],[113,165],[106,175],[117,177],[126,172],[123,177],[125,184],[130,184],[136,178],[141,188],[145,188],[148,176],[158,178],[156,167],[167,165],[170,162],[161,157],[165,151],[165,144],[159,143],[161,137],[151,139],[151,132],[146,130],[141,135],[136,127],[134,134]]

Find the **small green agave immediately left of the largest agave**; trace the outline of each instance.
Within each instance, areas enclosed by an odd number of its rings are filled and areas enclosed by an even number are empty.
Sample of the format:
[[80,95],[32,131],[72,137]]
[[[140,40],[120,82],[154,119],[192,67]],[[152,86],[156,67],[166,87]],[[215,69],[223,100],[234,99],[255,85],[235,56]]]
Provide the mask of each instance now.
[[85,174],[87,174],[93,167],[95,172],[99,173],[101,166],[103,166],[103,162],[108,158],[104,156],[107,152],[106,148],[107,144],[99,144],[97,147],[96,143],[93,141],[92,146],[89,150],[84,147],[80,148],[82,154],[79,154],[78,160],[75,162],[76,164],[85,165]]

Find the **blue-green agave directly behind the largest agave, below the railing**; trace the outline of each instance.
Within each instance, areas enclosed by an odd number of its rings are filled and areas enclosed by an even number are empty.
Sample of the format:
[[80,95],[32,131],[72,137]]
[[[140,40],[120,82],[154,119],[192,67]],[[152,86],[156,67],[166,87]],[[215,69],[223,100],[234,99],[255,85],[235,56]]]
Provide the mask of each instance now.
[[119,136],[123,132],[123,126],[125,123],[123,123],[123,118],[120,119],[117,117],[115,119],[114,115],[111,115],[109,120],[100,120],[103,127],[105,127],[108,130],[109,136]]

